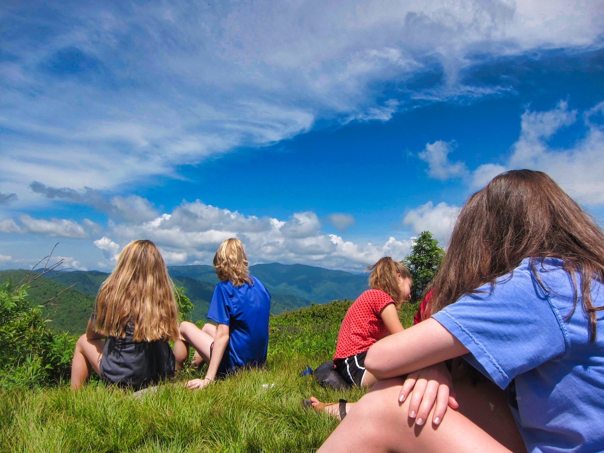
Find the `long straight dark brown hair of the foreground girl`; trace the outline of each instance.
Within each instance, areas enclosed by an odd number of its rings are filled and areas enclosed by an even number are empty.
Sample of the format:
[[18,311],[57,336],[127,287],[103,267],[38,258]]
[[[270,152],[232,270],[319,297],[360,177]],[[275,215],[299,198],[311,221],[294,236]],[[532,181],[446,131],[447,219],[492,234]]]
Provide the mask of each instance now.
[[[502,173],[466,202],[434,279],[429,312],[493,284],[525,258],[545,257],[562,259],[575,285],[580,276],[594,340],[596,311],[604,307],[593,306],[590,289],[592,278],[604,281],[604,234],[553,179],[532,170]],[[578,297],[576,288],[575,308]]]

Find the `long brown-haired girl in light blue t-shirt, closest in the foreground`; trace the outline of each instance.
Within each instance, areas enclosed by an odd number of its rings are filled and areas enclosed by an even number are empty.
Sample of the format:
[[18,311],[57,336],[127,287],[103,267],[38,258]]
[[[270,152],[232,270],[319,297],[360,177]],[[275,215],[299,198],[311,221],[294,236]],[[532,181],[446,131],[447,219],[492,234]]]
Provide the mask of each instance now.
[[[545,173],[496,176],[461,210],[431,318],[371,347],[381,381],[322,451],[600,451],[603,282],[604,234],[576,202]],[[410,396],[395,377],[458,356],[493,384],[454,381],[444,419],[450,381]]]

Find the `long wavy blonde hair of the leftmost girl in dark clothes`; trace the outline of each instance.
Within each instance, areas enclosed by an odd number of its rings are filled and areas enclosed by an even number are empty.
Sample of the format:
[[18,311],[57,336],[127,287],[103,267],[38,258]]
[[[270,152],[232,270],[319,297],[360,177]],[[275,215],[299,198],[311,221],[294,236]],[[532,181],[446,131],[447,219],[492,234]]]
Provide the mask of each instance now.
[[94,304],[94,329],[124,338],[134,325],[134,341],[178,338],[178,308],[172,280],[153,242],[135,240],[124,247]]

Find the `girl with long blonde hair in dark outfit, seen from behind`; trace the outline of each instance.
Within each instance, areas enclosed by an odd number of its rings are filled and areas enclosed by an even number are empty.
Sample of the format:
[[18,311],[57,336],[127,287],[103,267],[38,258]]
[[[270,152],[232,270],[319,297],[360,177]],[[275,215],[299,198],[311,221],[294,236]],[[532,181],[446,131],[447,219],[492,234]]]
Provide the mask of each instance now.
[[155,244],[135,240],[101,284],[76,343],[71,388],[82,387],[92,370],[103,381],[135,390],[171,377],[176,362],[168,341],[178,341],[172,281]]

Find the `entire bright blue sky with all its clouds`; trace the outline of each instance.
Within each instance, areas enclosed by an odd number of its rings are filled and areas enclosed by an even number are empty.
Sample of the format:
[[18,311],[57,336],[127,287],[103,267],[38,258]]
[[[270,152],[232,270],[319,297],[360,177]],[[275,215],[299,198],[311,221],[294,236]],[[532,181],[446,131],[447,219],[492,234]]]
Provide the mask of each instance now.
[[0,5],[0,269],[358,272],[517,168],[604,225],[601,1],[89,3]]

